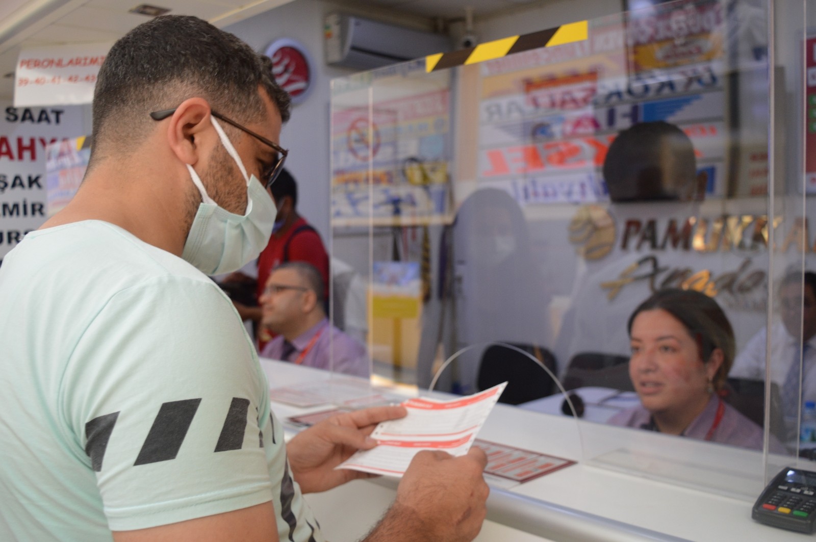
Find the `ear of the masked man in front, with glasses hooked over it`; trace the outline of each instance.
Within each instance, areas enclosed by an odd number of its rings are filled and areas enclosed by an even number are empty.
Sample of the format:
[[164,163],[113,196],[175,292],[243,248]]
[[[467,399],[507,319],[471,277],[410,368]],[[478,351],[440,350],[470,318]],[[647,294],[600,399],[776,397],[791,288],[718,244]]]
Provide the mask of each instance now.
[[203,98],[184,100],[170,118],[167,143],[181,162],[194,166],[214,143],[210,104]]

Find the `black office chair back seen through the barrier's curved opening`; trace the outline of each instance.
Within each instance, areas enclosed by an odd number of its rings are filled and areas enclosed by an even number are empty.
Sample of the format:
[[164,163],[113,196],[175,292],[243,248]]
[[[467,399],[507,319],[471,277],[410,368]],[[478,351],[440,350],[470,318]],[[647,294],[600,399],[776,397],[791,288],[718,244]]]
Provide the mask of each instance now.
[[[556,358],[548,349],[534,344],[508,344],[530,353],[555,374]],[[518,405],[552,394],[552,378],[547,371],[516,350],[509,349],[503,344],[491,344],[481,354],[477,387],[481,391],[505,380],[508,386],[504,389],[499,402],[509,405]]]

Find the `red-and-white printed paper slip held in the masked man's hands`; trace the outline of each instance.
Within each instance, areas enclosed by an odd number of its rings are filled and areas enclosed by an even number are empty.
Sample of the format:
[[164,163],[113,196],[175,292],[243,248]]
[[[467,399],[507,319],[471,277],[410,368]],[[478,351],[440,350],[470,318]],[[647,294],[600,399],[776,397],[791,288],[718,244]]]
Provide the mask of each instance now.
[[357,451],[337,468],[400,478],[419,451],[441,450],[450,455],[465,455],[506,386],[504,382],[450,401],[415,398],[402,402],[408,415],[400,420],[385,421],[371,433],[379,445],[372,450]]

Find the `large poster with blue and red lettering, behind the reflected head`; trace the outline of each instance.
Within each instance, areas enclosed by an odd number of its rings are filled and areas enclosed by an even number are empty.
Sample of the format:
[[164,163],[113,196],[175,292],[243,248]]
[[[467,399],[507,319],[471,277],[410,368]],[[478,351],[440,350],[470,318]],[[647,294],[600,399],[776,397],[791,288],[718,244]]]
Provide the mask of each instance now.
[[[700,3],[677,7],[685,10],[681,19],[688,23],[676,30],[677,37],[708,36],[720,43],[721,16],[712,11],[712,2],[702,2],[704,12],[694,11],[698,16],[692,17],[690,7],[703,9]],[[530,51],[483,63],[481,186],[503,189],[521,205],[605,201],[601,169],[610,143],[633,124],[664,121],[692,141],[698,171],[707,174],[708,195],[723,195],[727,108],[722,47],[669,51],[665,29],[655,28],[678,19],[662,9],[638,12],[636,20],[592,21],[588,42],[553,48],[560,51]]]

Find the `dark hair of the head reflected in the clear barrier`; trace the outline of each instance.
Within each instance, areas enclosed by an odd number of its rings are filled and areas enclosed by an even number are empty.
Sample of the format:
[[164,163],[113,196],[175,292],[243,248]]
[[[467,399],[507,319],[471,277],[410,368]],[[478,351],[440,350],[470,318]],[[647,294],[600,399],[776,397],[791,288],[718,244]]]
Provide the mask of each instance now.
[[694,145],[674,124],[634,124],[610,144],[604,180],[613,202],[683,199],[698,182]]

